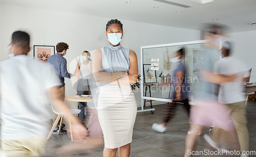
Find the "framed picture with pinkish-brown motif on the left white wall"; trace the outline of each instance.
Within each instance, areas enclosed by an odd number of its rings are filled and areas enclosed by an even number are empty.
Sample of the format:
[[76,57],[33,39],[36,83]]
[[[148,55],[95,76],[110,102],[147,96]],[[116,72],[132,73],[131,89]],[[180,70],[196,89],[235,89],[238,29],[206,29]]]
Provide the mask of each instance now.
[[34,59],[46,63],[48,58],[55,54],[55,46],[34,45]]

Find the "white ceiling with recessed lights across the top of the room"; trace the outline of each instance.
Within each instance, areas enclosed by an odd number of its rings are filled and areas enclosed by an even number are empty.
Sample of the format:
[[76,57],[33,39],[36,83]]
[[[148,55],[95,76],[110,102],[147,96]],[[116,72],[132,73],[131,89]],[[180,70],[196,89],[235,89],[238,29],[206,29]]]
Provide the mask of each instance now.
[[190,7],[183,8],[154,0],[0,0],[0,4],[59,10],[194,30],[200,30],[202,23],[209,22],[226,24],[231,28],[230,32],[256,30],[256,24],[248,24],[256,22],[256,0],[214,0],[204,4],[198,2],[209,0],[165,1]]

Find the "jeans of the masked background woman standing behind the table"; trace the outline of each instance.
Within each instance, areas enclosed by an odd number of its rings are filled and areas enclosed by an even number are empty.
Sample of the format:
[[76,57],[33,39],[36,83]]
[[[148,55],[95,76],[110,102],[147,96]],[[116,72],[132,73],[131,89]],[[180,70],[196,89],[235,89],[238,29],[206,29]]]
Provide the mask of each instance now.
[[[76,86],[76,92],[77,94],[91,94],[89,85],[90,85],[91,79],[79,79],[77,81],[77,86]],[[87,106],[87,102],[78,102],[78,109],[81,110],[81,112],[78,114],[79,119],[83,120],[84,119],[84,107]]]

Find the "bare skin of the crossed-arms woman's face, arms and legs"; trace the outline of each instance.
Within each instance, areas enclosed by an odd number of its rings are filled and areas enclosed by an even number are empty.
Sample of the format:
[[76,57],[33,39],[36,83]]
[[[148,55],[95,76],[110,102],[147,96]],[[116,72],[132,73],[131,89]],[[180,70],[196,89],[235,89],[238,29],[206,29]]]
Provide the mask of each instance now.
[[[106,31],[106,37],[108,37],[109,33],[122,33],[122,29],[120,25],[118,24],[111,24]],[[122,36],[123,37],[123,36]],[[121,37],[121,38],[122,38]],[[117,45],[113,45],[110,43],[112,46],[118,46],[120,43]],[[97,82],[102,82],[102,83],[111,83],[114,85],[130,85],[134,84],[137,82],[138,78],[138,61],[137,61],[137,56],[133,50],[130,49],[129,52],[129,60],[130,60],[130,67],[129,67],[129,72],[113,72],[113,73],[108,73],[108,72],[103,72],[101,69],[101,62],[102,62],[102,53],[100,49],[96,49],[94,51],[94,57],[93,57],[93,76]],[[118,149],[118,156],[130,156],[130,143],[126,144],[124,146],[121,146],[119,148],[111,149],[111,148],[105,148],[103,150],[103,156],[104,157],[109,157],[109,156],[116,156],[116,152]]]

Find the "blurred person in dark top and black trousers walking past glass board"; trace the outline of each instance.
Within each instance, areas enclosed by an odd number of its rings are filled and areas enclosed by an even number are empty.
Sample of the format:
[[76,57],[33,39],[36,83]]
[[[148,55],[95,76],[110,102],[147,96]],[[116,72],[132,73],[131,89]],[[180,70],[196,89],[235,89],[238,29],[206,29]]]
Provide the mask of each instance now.
[[[178,63],[176,69],[174,70],[174,78],[173,78],[173,102],[166,103],[164,106],[164,115],[163,115],[163,120],[161,124],[154,123],[152,125],[152,129],[155,130],[156,132],[163,133],[166,130],[166,125],[170,118],[172,118],[175,108],[177,105],[177,102],[183,103],[184,108],[186,109],[188,115],[189,115],[189,110],[190,110],[190,105],[188,103],[188,90],[191,91],[191,87],[189,84],[186,82],[187,79],[186,77],[186,68],[185,64],[183,63],[184,59],[184,54],[185,54],[185,49],[181,48],[179,49],[176,53],[174,58],[171,59],[172,63]],[[190,88],[187,88],[190,87]]]

